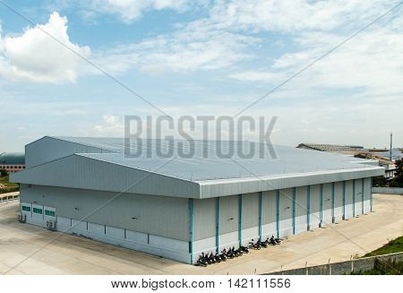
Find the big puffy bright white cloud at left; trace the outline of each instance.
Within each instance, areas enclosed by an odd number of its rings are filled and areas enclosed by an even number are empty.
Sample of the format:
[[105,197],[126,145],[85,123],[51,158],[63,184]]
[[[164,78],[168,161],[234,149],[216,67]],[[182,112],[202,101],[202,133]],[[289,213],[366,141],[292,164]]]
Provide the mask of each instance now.
[[80,47],[70,41],[67,19],[52,13],[46,24],[27,28],[19,37],[0,35],[0,74],[14,81],[74,82],[80,57],[42,30],[82,56],[90,56],[90,47]]

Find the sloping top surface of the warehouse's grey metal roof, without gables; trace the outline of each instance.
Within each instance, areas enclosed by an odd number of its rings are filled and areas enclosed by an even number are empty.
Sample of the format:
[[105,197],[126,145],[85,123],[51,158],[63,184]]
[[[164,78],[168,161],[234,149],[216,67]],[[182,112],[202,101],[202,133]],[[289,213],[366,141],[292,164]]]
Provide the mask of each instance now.
[[[203,181],[227,178],[243,178],[256,176],[273,176],[284,174],[300,174],[305,172],[320,172],[340,169],[368,168],[357,167],[356,162],[364,162],[346,156],[333,153],[306,151],[287,146],[274,145],[277,158],[270,156],[269,149],[262,153],[255,151],[251,158],[241,158],[238,151],[245,152],[259,150],[262,144],[257,142],[214,142],[194,141],[193,145],[184,141],[159,141],[141,140],[124,142],[121,138],[93,138],[93,137],[56,137],[68,142],[77,142],[93,147],[116,151],[118,153],[81,154],[92,159],[99,159],[113,164],[124,165],[130,168],[140,168],[152,172],[159,168],[158,173],[169,177],[177,177],[188,181]],[[182,142],[178,146],[177,142]],[[124,145],[127,146],[124,154]],[[172,152],[167,158],[161,158],[159,151]],[[127,151],[142,150],[139,158],[131,158]],[[184,158],[179,152],[189,153],[194,151],[190,158]],[[230,158],[220,157],[218,152],[224,154],[233,153]],[[150,157],[148,157],[150,156]],[[175,159],[173,159],[175,158]],[[169,163],[167,161],[169,160]],[[166,165],[164,165],[167,163]],[[164,165],[164,166],[163,166]],[[163,167],[161,167],[163,166]]]

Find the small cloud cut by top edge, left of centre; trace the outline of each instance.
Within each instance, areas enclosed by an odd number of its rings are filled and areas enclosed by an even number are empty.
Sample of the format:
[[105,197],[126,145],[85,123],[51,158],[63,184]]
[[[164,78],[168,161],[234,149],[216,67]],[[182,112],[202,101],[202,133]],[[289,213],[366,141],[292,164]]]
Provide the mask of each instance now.
[[191,2],[189,0],[92,0],[90,9],[99,13],[117,14],[124,22],[133,22],[149,10],[170,9],[184,12]]

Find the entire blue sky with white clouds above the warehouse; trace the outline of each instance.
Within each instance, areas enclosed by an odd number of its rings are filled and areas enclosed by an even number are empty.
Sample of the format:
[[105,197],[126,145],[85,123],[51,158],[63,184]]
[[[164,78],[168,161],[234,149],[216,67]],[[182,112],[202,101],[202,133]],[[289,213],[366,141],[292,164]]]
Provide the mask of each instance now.
[[[0,151],[41,136],[119,136],[124,115],[234,116],[399,1],[4,1]],[[403,5],[402,5],[403,6]],[[403,146],[402,9],[243,114],[272,142]],[[39,29],[40,28],[40,29]],[[253,139],[253,137],[252,137]]]

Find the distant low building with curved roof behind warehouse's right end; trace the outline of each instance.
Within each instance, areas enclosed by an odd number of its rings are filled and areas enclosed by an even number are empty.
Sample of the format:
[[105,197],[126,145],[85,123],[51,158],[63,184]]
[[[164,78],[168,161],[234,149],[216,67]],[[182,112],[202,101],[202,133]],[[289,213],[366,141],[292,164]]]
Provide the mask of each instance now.
[[396,165],[393,160],[390,160],[374,150],[364,150],[362,146],[356,145],[337,145],[337,144],[319,144],[319,143],[300,143],[296,146],[298,149],[313,150],[313,151],[327,151],[339,152],[340,154],[377,161],[378,165],[385,168],[386,178],[392,178],[396,175]]

